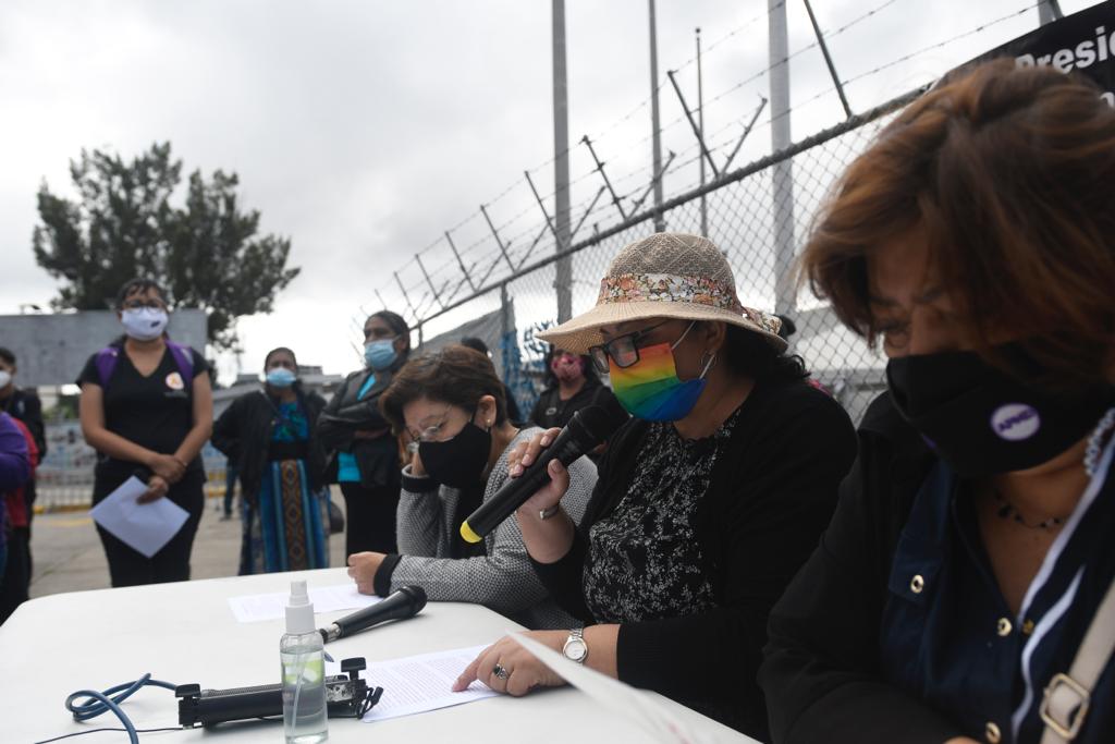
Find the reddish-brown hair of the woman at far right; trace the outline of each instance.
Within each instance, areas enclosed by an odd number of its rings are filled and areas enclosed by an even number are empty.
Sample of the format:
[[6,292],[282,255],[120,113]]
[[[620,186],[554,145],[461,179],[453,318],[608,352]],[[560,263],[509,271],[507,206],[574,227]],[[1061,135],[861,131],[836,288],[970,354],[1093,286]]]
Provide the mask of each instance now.
[[802,257],[813,291],[874,345],[869,261],[919,230],[985,358],[1006,365],[1006,332],[1066,385],[1111,381],[1115,109],[1099,93],[1012,60],[943,80],[837,183]]

